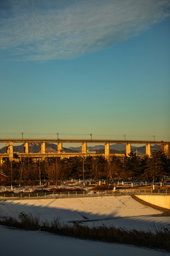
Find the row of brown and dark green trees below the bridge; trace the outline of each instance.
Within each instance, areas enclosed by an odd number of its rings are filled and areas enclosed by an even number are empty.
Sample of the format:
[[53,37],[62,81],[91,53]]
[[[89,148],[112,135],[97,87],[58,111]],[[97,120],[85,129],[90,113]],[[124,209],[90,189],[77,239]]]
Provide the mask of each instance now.
[[131,181],[163,181],[170,175],[170,159],[164,151],[154,151],[152,156],[137,156],[131,152],[120,158],[112,156],[107,161],[103,156],[72,157],[70,159],[52,158],[34,161],[23,158],[17,161],[4,161],[0,167],[1,185],[33,185],[41,183],[58,184],[73,179],[99,180],[106,182],[130,178]]

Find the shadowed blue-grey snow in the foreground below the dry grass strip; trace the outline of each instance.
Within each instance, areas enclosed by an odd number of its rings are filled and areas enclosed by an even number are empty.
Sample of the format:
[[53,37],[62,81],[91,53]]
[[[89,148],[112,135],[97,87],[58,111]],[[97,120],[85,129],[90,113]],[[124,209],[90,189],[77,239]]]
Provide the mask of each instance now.
[[151,250],[131,245],[79,240],[41,231],[26,231],[0,225],[1,256],[166,256],[162,250]]

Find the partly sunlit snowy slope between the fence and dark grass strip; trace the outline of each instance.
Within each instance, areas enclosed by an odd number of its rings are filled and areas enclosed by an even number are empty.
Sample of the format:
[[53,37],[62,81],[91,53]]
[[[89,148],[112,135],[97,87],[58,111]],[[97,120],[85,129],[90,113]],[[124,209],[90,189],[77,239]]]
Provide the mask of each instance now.
[[153,230],[169,226],[170,216],[142,205],[131,196],[106,196],[96,198],[60,198],[23,201],[1,201],[0,218],[24,211],[38,217],[40,222],[58,219],[60,223],[75,221],[84,225],[106,225],[128,229]]

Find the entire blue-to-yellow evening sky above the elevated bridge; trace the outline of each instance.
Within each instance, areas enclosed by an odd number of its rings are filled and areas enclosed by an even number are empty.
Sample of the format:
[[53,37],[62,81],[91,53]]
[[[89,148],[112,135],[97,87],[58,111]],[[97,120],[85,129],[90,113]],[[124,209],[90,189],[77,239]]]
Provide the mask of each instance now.
[[1,0],[0,138],[170,141],[169,0]]

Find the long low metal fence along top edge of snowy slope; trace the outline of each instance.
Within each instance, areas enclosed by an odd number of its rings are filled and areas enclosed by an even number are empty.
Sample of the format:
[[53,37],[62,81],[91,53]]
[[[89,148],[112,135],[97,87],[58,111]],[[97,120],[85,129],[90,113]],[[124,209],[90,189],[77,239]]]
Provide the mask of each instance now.
[[23,199],[50,199],[50,198],[78,198],[97,196],[125,196],[134,194],[170,195],[170,189],[127,189],[127,190],[106,190],[106,191],[67,191],[67,192],[46,192],[46,193],[0,193],[0,201],[23,200]]

